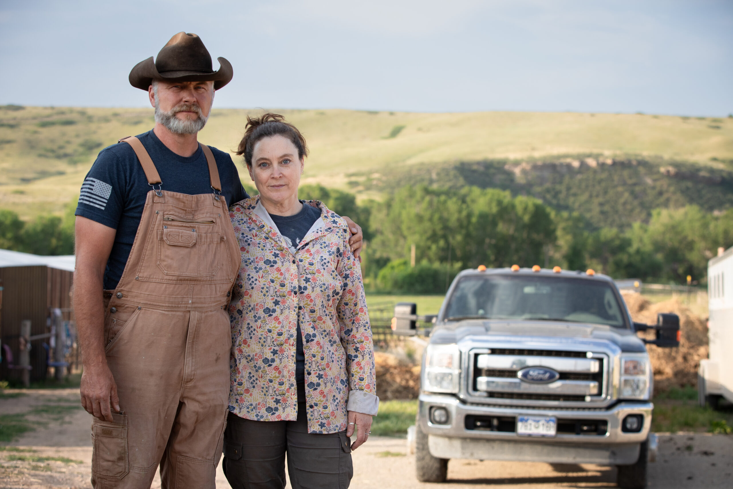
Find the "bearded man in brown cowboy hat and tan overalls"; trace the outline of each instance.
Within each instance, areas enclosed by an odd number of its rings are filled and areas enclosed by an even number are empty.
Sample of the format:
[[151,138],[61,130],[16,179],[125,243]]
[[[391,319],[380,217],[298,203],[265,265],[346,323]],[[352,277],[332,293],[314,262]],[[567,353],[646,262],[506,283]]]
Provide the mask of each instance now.
[[95,488],[150,487],[158,464],[163,488],[215,487],[240,265],[227,205],[247,197],[232,158],[197,140],[232,79],[218,62],[180,32],[133,67],[155,127],[102,150],[81,186],[74,308]]

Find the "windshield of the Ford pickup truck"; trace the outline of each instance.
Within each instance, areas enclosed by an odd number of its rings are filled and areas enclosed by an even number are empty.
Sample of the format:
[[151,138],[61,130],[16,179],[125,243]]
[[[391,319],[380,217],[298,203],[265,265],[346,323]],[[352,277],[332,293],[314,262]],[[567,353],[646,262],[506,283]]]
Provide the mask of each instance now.
[[447,320],[570,321],[625,327],[611,284],[542,276],[467,276],[456,284]]

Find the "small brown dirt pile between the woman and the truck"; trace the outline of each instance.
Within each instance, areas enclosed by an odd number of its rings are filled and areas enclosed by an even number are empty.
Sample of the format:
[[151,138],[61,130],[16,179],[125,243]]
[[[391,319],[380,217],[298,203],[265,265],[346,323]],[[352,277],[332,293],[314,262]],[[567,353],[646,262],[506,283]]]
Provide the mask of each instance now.
[[420,391],[420,366],[391,353],[375,352],[377,396],[380,400],[416,399]]

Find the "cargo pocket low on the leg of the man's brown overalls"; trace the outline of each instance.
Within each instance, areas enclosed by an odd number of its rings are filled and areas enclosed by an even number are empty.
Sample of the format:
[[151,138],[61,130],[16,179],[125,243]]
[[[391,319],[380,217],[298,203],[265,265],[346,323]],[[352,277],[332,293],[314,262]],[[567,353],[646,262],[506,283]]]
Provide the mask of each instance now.
[[113,422],[92,422],[92,473],[95,477],[122,479],[130,471],[128,416],[112,414]]

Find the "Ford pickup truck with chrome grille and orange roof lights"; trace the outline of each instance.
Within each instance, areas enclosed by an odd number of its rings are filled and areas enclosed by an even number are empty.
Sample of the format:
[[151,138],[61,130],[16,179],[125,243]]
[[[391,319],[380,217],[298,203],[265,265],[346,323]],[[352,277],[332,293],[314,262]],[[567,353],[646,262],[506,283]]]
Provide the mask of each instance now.
[[[418,325],[428,328],[419,328]],[[589,271],[466,270],[437,316],[395,307],[396,334],[430,334],[414,431],[417,478],[452,458],[618,466],[644,488],[656,455],[645,343],[679,345],[679,317],[633,323],[614,281]],[[636,332],[653,328],[656,339]]]

